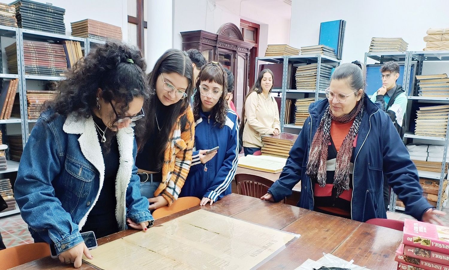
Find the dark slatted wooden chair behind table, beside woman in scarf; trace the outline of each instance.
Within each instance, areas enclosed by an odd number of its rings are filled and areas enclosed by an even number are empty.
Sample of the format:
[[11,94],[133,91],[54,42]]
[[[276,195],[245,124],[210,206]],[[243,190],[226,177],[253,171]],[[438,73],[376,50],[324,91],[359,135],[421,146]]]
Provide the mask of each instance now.
[[[260,177],[258,175],[238,173],[235,175],[235,182],[237,184],[237,193],[240,195],[260,198],[265,195],[268,189],[273,185],[273,181]],[[285,204],[286,199],[282,200]]]

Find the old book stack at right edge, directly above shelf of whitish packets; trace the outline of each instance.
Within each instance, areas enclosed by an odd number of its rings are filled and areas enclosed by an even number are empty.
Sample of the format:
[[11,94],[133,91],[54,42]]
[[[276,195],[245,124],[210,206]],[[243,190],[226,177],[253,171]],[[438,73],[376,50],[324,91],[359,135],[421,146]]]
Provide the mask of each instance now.
[[415,135],[446,137],[449,105],[419,107]]

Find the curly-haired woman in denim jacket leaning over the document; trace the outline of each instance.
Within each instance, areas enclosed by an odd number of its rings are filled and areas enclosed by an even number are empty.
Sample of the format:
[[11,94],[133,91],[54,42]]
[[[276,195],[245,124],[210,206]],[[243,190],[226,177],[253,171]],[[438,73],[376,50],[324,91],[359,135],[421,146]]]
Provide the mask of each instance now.
[[[57,83],[23,150],[14,194],[35,242],[81,266],[80,232],[100,238],[153,224],[141,196],[133,126],[144,117],[146,64],[140,51],[106,43]],[[138,128],[136,126],[136,128]]]

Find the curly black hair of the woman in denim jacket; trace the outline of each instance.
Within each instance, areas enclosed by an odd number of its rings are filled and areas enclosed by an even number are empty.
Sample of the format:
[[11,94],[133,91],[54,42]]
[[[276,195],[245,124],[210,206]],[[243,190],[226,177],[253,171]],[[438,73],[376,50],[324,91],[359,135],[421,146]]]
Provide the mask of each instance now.
[[[59,93],[44,104],[44,109],[51,109],[52,116],[74,113],[78,119],[87,119],[97,106],[97,91],[101,89],[102,98],[106,102],[119,102],[122,106],[116,110],[124,115],[134,97],[148,96],[145,70],[145,59],[139,49],[112,42],[99,45],[66,71],[65,80],[56,82],[54,87]],[[143,121],[136,122],[135,130],[136,136],[143,134]],[[113,132],[108,133],[111,136]]]

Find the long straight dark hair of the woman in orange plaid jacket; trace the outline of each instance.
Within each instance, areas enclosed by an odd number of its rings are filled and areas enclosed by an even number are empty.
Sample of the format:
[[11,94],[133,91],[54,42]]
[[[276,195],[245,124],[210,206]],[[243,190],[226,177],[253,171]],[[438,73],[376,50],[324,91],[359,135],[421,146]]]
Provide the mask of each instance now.
[[[139,148],[142,149],[142,146],[145,145],[147,139],[151,136],[151,133],[154,132],[155,128],[155,115],[156,111],[158,111],[159,106],[163,106],[160,104],[160,101],[158,101],[158,96],[156,95],[156,82],[158,80],[159,75],[161,73],[173,73],[176,72],[179,75],[185,77],[187,81],[189,82],[189,85],[187,86],[187,89],[185,93],[187,94],[187,97],[184,99],[181,99],[180,101],[176,102],[175,104],[172,104],[170,106],[167,106],[167,116],[166,121],[162,124],[161,130],[159,132],[159,135],[156,136],[154,142],[155,146],[155,153],[156,157],[159,157],[160,155],[163,155],[163,152],[165,151],[167,147],[167,143],[171,139],[171,133],[173,130],[173,127],[176,124],[176,121],[178,120],[179,116],[187,110],[187,108],[190,105],[190,98],[192,96],[193,92],[193,67],[192,67],[192,61],[190,61],[190,58],[187,56],[186,53],[177,50],[177,49],[168,49],[163,55],[156,61],[154,64],[153,71],[148,75],[148,83],[150,86],[150,97],[147,101],[145,101],[144,107],[147,108],[147,111],[149,111],[148,116],[145,118],[145,124],[146,124],[146,131],[145,136],[142,140],[138,141]],[[159,123],[161,124],[161,123]],[[158,158],[156,158],[158,159]],[[158,164],[157,167],[160,168],[162,164]]]

